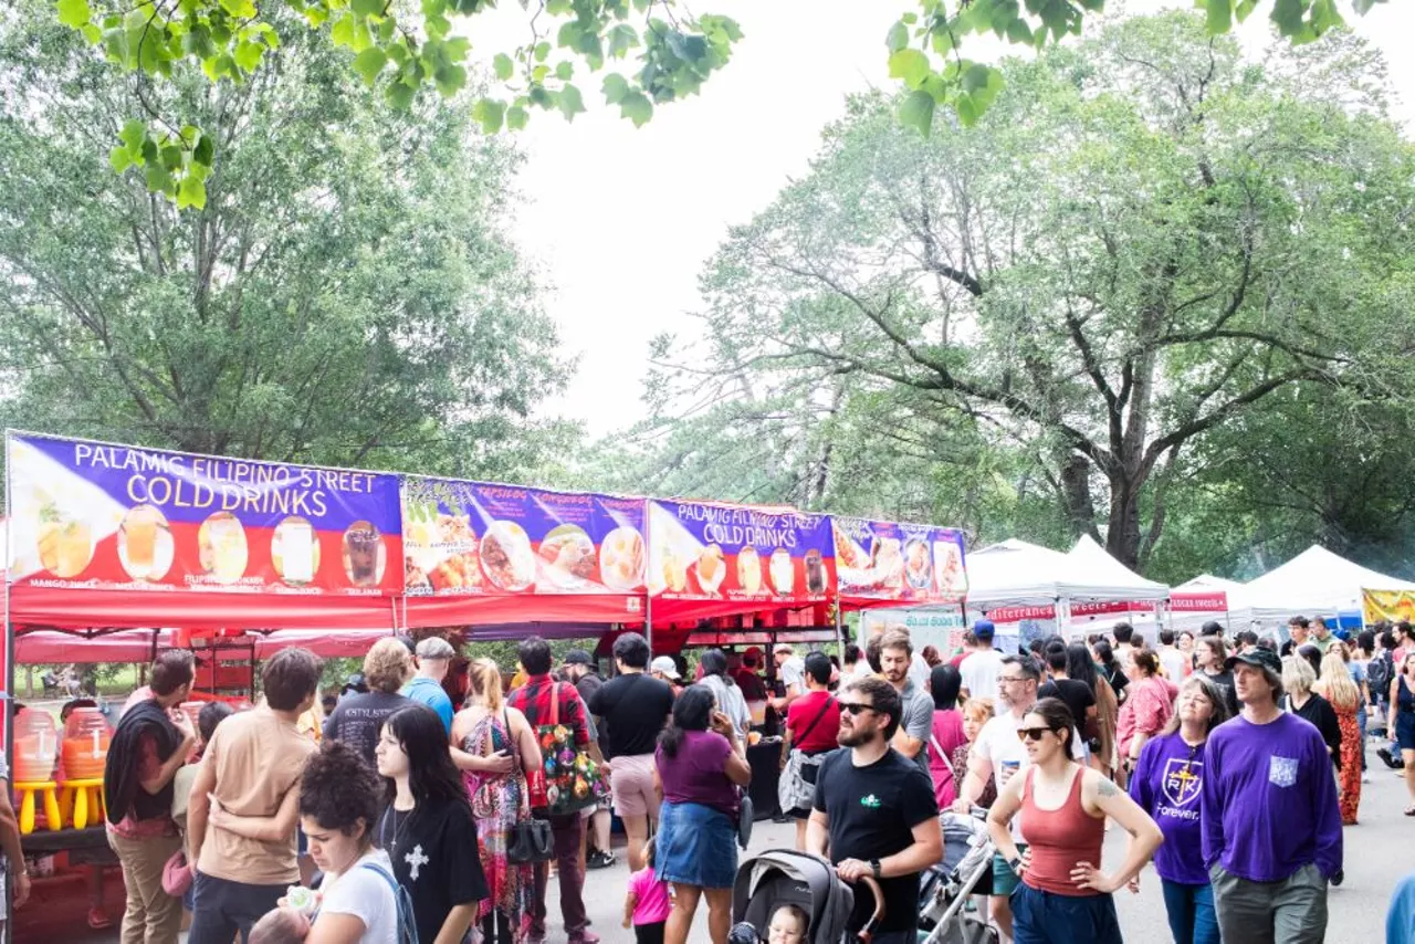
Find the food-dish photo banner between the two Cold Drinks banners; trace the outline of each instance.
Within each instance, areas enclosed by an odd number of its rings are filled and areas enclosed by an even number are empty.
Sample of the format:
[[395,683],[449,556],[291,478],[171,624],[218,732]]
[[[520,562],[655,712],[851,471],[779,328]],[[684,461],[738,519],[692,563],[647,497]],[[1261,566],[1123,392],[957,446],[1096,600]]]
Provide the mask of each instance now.
[[633,593],[644,500],[403,478],[409,596]]

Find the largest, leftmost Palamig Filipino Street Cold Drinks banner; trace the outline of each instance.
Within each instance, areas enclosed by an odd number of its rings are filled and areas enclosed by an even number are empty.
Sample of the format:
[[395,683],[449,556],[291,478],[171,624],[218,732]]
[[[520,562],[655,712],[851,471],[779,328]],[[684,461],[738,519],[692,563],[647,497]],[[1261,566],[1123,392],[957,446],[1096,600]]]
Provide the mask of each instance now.
[[21,433],[6,443],[16,583],[402,590],[396,476]]

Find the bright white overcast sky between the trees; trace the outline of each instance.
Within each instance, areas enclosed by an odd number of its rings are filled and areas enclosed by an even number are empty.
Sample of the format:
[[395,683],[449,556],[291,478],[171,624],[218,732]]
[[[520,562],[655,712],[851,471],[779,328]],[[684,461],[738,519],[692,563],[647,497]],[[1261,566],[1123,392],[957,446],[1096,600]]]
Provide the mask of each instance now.
[[[494,14],[494,24],[478,23],[477,33],[494,25],[481,33],[478,51],[521,41],[525,16],[518,4],[507,6]],[[846,95],[891,85],[884,34],[914,3],[695,0],[691,6],[733,17],[746,34],[702,95],[658,109],[652,122],[635,129],[618,109],[603,105],[599,76],[577,76],[590,113],[567,125],[536,112],[516,137],[526,156],[518,181],[526,201],[512,234],[552,289],[548,309],[565,348],[580,355],[567,393],[543,412],[584,420],[593,436],[642,418],[648,341],[664,330],[696,333],[688,313],[700,304],[698,275],[727,228],[749,221],[788,178],[805,171],[822,126],[841,115]],[[1132,0],[1125,10],[1172,6]],[[1391,86],[1404,93],[1397,115],[1407,126],[1415,57],[1401,55],[1398,44],[1415,35],[1411,6],[1380,4],[1354,23],[1384,50]],[[1269,8],[1271,0],[1259,4],[1264,14]],[[1265,33],[1266,23],[1255,14],[1242,35],[1259,47]],[[969,44],[975,58],[990,58],[976,38]]]

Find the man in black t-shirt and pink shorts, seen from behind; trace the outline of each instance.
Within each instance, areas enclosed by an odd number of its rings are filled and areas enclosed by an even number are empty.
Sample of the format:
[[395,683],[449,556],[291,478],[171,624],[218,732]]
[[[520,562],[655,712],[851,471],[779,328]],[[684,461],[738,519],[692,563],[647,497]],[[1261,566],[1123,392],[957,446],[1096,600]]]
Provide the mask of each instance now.
[[614,640],[618,675],[590,696],[590,713],[607,722],[604,756],[610,761],[614,812],[628,835],[628,868],[644,868],[644,844],[658,822],[654,747],[674,710],[674,689],[648,675],[648,640],[625,633]]

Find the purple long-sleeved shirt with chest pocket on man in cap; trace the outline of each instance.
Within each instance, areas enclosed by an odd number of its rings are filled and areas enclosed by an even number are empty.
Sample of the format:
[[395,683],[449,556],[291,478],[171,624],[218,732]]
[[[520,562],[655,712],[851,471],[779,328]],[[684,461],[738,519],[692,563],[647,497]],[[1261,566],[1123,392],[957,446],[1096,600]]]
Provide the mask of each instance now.
[[1296,715],[1268,725],[1234,718],[1206,746],[1204,865],[1279,882],[1315,862],[1341,869],[1341,814],[1322,733]]

